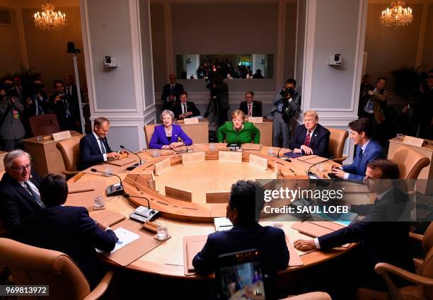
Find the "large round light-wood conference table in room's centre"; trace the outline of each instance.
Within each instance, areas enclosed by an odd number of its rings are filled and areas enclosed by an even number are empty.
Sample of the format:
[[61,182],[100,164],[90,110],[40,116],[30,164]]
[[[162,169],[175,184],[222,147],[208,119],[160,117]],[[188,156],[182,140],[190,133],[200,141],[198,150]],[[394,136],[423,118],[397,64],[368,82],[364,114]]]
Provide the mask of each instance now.
[[[117,173],[122,178],[125,192],[130,197],[128,199],[122,196],[107,197],[105,203],[106,209],[120,213],[128,219],[129,214],[134,211],[135,207],[139,205],[147,206],[146,200],[135,198],[134,195],[147,197],[150,207],[160,211],[160,217],[156,221],[166,225],[168,233],[171,235],[171,238],[161,243],[161,245],[124,266],[125,269],[178,279],[202,279],[202,277],[197,275],[185,275],[183,238],[213,233],[215,231],[214,217],[226,217],[226,200],[224,202],[207,202],[207,192],[226,195],[225,193],[229,192],[231,184],[235,183],[238,179],[273,180],[283,178],[291,179],[293,182],[296,182],[296,180],[308,181],[306,180],[308,179],[306,170],[310,168],[312,163],[301,161],[298,158],[284,161],[276,157],[277,155],[282,156],[284,153],[289,152],[289,149],[273,148],[271,149],[272,153],[268,153],[270,147],[267,146],[262,146],[256,150],[245,149],[238,152],[238,154],[234,154],[235,156],[241,155],[242,160],[241,162],[235,162],[230,161],[230,159],[221,161],[221,158],[225,157],[227,153],[234,152],[226,151],[226,144],[214,144],[212,146],[215,147],[214,150],[209,150],[209,144],[194,144],[188,147],[189,150],[185,149],[185,146],[181,147],[180,151],[193,150],[186,155],[191,156],[193,154],[192,156],[195,156],[195,158],[199,157],[202,159],[201,162],[192,161],[191,163],[190,161],[190,164],[188,164],[187,159],[183,158],[185,153],[156,150],[160,156],[153,157],[156,154],[155,150],[144,150],[139,152],[138,155],[145,162],[132,171],[125,170],[132,163],[122,166],[122,168],[110,166],[112,172]],[[129,157],[133,156],[129,154]],[[324,161],[322,168],[325,168],[325,171],[322,170],[323,173],[326,173],[335,164],[332,161],[325,161],[325,158],[318,156],[312,156],[311,158],[312,161],[320,161],[320,159]],[[266,165],[260,166],[263,159],[265,159]],[[138,158],[136,161],[138,161]],[[258,164],[257,161],[259,161]],[[97,168],[98,171],[104,171],[107,167],[105,165],[107,164],[94,166],[94,168]],[[323,176],[325,177],[326,175]],[[71,178],[69,184],[85,183],[92,180],[105,180],[104,184],[106,186],[118,182],[115,176],[105,177],[104,175],[99,175],[99,173],[92,173],[88,169]],[[170,197],[167,197],[166,193],[170,191],[167,190],[167,186],[173,188],[178,193],[174,192]],[[182,199],[185,196],[182,192],[187,192],[190,196],[189,199]],[[175,195],[179,197],[175,197]],[[90,214],[91,216],[95,216],[98,212],[92,211]],[[284,218],[281,218],[281,216],[273,216],[260,219],[260,224],[274,226],[277,222],[279,226],[282,226],[287,238],[291,242],[298,238],[311,238],[291,228],[291,225],[294,223],[293,221],[282,220]],[[139,230],[144,231],[145,229]],[[354,246],[352,244],[345,248],[340,247],[327,251],[303,252],[296,250],[304,264],[296,267],[287,267],[286,270],[279,272],[279,277],[284,277],[284,274],[293,274],[293,272],[298,270],[303,270],[336,258]],[[107,261],[110,263],[110,260]]]

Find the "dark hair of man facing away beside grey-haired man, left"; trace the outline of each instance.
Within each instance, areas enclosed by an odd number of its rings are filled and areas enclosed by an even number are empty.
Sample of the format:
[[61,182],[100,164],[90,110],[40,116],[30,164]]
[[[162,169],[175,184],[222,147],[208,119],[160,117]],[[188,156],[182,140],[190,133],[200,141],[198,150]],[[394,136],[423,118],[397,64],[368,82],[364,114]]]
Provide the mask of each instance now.
[[47,174],[38,189],[46,207],[64,204],[68,197],[68,184],[61,175]]

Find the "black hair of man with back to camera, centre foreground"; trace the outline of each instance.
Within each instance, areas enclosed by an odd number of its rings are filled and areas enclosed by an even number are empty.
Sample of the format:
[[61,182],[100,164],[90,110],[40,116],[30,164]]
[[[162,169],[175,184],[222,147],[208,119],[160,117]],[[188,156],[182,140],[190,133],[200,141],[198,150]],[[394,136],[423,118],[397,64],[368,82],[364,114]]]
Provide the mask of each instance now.
[[253,225],[260,217],[265,190],[253,180],[238,180],[231,185],[229,204],[238,211],[238,223]]

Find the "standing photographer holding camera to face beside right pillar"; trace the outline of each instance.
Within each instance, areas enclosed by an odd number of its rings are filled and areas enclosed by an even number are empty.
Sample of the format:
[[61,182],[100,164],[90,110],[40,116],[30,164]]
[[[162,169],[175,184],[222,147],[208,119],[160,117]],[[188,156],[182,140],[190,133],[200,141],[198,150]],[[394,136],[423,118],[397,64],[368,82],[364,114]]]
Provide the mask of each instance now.
[[[284,95],[284,96],[283,96]],[[298,105],[296,105],[292,96],[293,88],[286,88],[282,97],[275,103],[271,113],[274,113],[274,122],[272,124],[272,146],[279,147],[279,134],[282,134],[282,147],[289,148],[290,141],[290,120],[294,117]]]

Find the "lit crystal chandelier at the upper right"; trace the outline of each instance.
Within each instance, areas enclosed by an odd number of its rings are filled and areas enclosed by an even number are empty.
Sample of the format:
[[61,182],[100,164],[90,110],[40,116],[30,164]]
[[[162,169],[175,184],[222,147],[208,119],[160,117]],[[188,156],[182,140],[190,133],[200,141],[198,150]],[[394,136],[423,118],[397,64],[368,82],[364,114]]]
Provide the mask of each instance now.
[[393,1],[391,8],[382,11],[381,23],[392,28],[404,27],[412,23],[412,8],[404,6],[405,1]]

